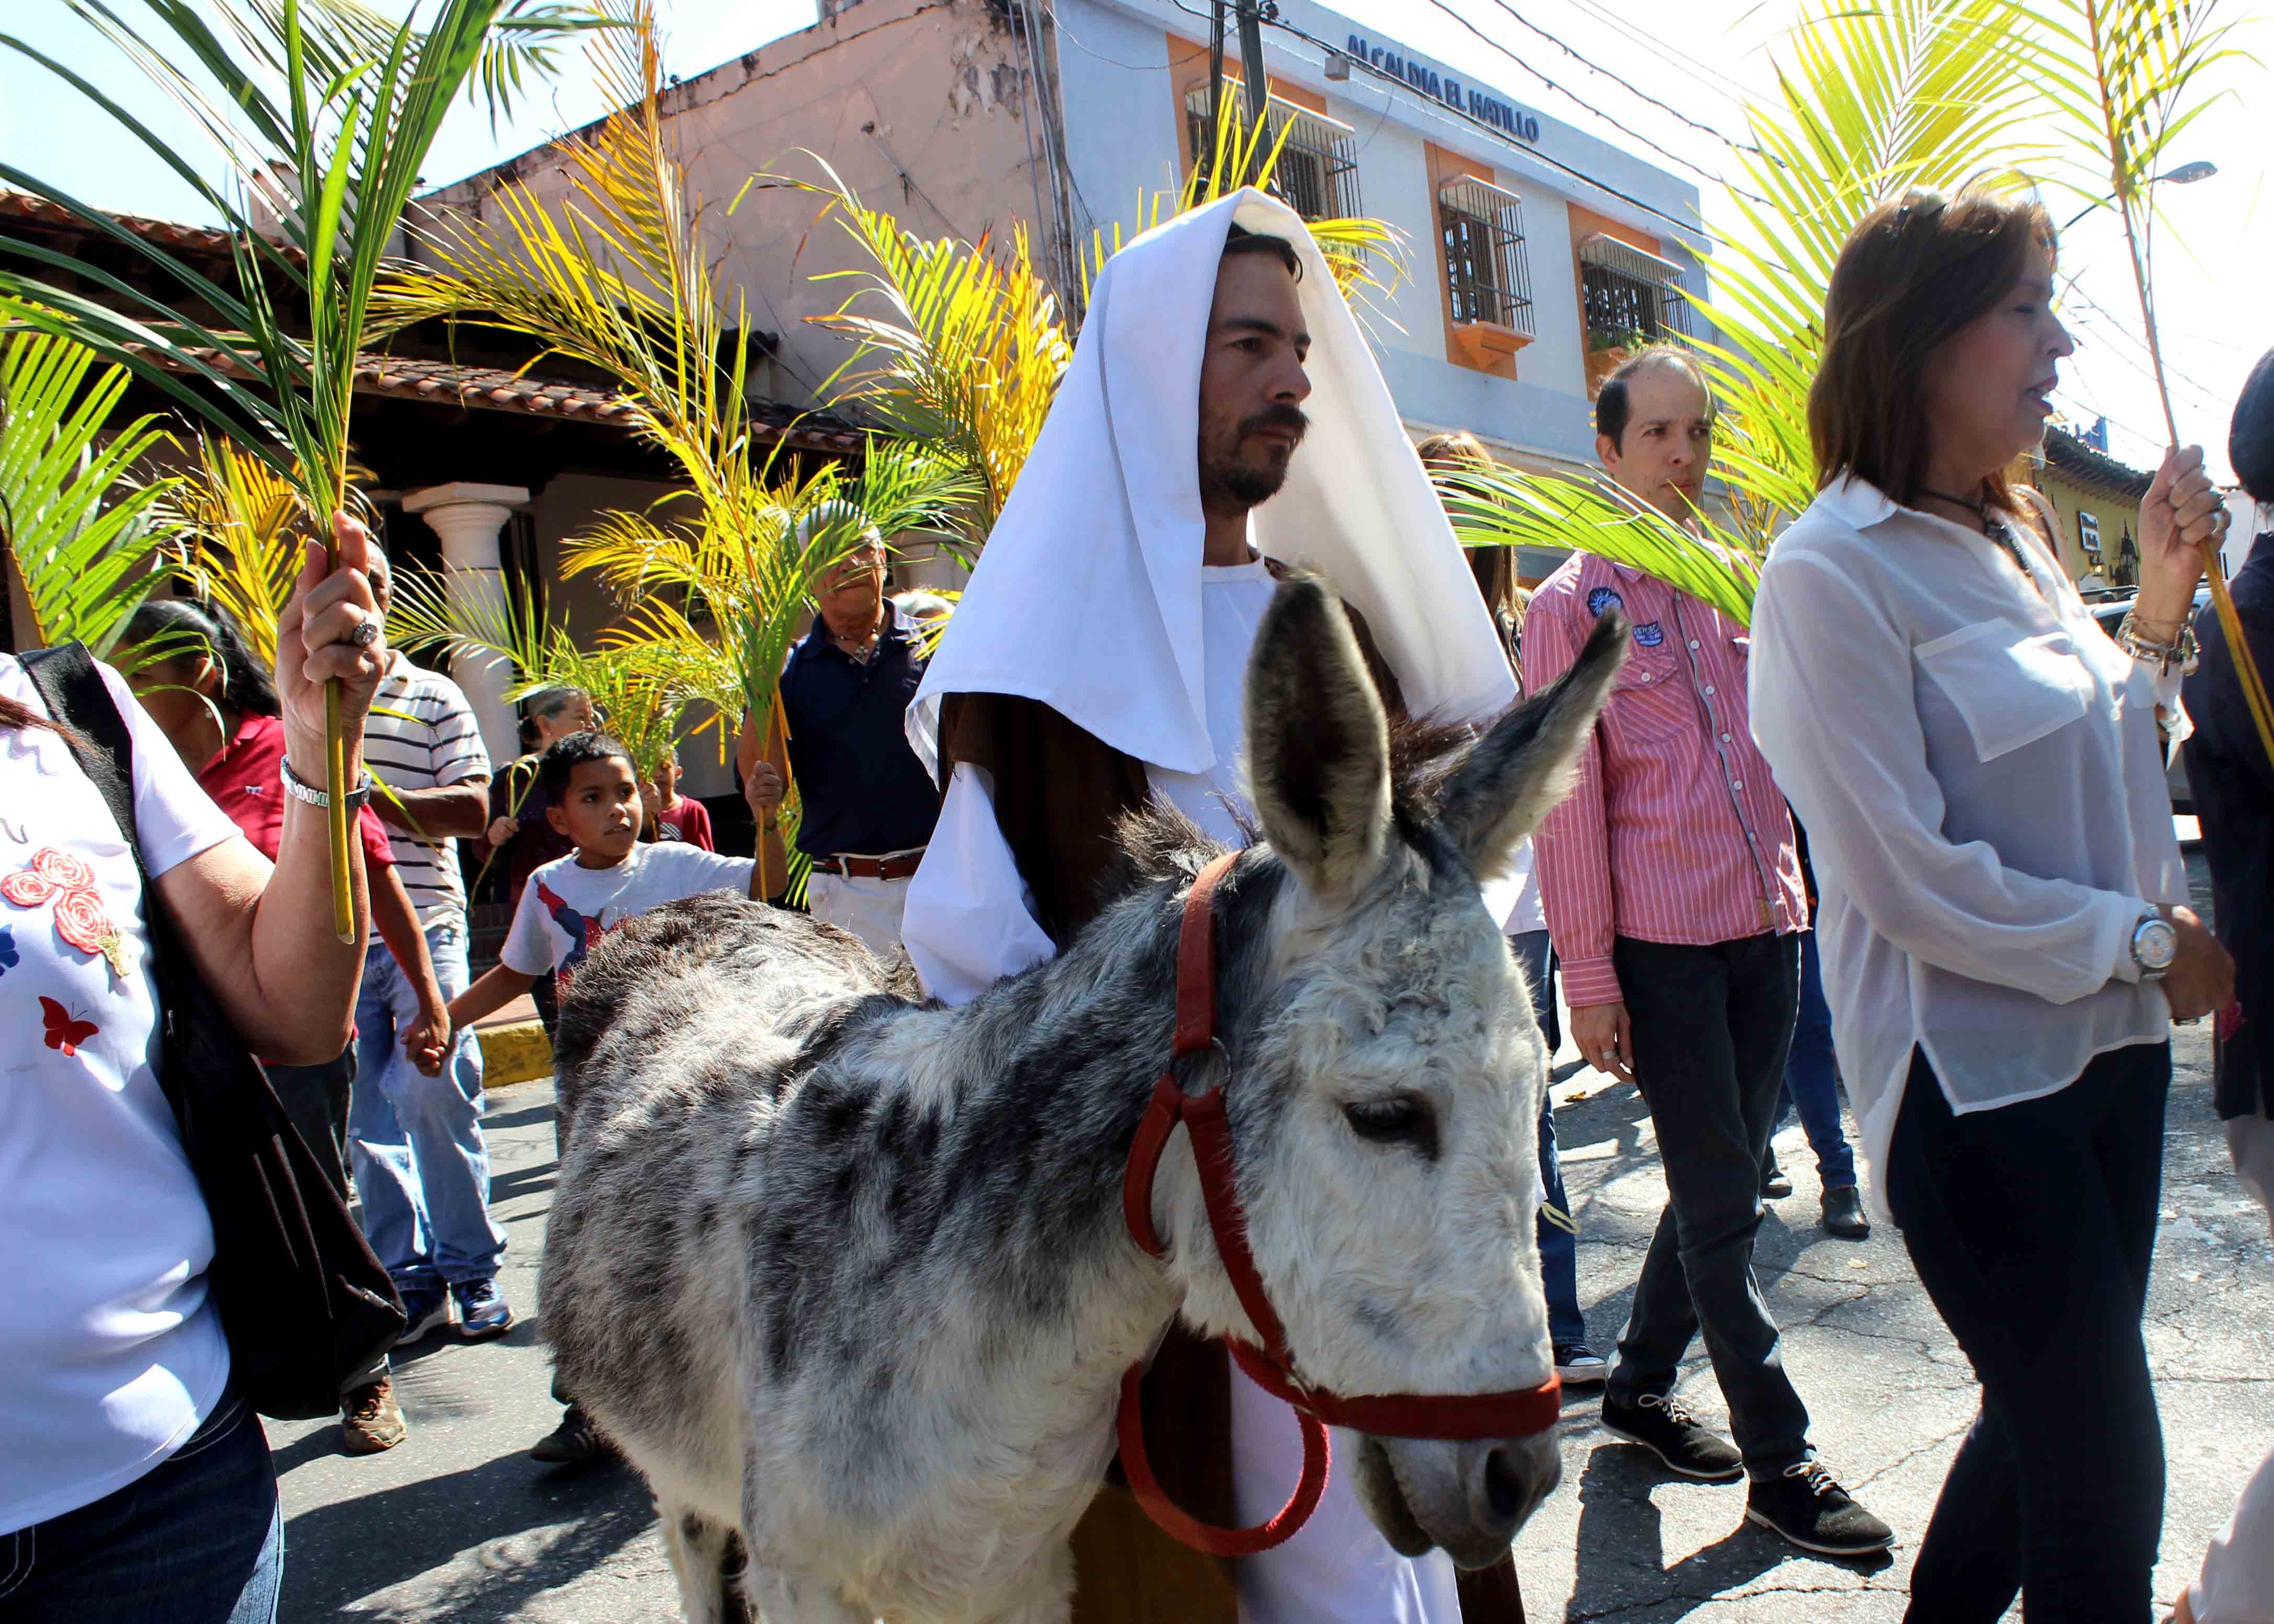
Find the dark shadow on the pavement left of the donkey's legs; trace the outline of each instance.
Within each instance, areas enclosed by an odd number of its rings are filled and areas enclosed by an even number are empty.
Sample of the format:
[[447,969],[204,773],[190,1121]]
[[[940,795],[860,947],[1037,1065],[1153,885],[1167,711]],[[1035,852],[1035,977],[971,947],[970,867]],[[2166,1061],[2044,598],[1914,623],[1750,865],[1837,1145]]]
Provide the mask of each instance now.
[[416,1617],[503,1624],[653,1524],[655,1506],[628,1467],[546,1472],[514,1451],[293,1517],[277,1619],[316,1624],[355,1601],[357,1617],[396,1617],[382,1592],[423,1579]]

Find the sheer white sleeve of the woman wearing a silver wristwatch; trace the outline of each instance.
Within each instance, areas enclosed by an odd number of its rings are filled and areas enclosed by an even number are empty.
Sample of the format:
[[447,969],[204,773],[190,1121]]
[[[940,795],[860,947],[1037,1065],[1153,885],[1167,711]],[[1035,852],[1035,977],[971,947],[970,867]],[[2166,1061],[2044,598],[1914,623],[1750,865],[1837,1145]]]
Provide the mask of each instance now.
[[1781,562],[1753,605],[1753,739],[1817,869],[1837,869],[1872,928],[1910,958],[2049,1003],[2106,987],[2119,958],[2131,964],[2140,898],[2022,873],[1987,842],[1951,842],[1910,641],[1837,569]]

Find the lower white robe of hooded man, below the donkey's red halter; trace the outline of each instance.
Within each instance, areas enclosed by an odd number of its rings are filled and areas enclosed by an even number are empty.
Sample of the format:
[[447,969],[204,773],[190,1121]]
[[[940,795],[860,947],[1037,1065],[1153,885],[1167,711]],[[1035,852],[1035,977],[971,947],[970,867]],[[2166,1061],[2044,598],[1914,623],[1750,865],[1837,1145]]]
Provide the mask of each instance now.
[[[1239,1624],[1460,1624],[1453,1558],[1389,1549],[1351,1488],[1353,1433],[1333,1433],[1326,1499],[1287,1544],[1239,1558]],[[1233,1365],[1233,1503],[1253,1526],[1303,1476],[1294,1410]]]

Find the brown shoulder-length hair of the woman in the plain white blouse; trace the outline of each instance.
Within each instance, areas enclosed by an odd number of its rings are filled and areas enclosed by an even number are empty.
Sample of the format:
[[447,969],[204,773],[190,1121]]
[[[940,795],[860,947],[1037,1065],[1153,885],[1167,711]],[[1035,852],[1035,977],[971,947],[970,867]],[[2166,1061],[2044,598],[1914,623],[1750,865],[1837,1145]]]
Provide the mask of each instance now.
[[[2053,255],[2053,221],[2026,198],[1908,191],[1849,234],[1824,296],[1824,362],[1808,391],[1817,489],[1853,473],[1906,507],[1926,484],[1926,366],[1942,343]],[[2006,473],[1981,500],[2012,507]]]

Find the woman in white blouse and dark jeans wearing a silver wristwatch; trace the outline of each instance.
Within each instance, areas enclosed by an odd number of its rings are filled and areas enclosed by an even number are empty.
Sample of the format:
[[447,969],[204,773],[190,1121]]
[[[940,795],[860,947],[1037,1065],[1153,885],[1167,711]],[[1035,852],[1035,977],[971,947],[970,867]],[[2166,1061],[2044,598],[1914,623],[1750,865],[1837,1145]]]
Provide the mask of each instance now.
[[1833,271],[1819,494],[1753,612],[1753,732],[1808,826],[1842,1069],[1883,1215],[1983,1408],[1910,1617],[2149,1617],[2163,1433],[2140,1310],[2169,1019],[2233,964],[2183,908],[2156,737],[2176,712],[2201,450],[2140,514],[2122,644],[2006,484],[2074,350],[2033,202],[1910,193]]

